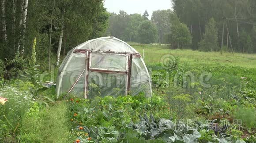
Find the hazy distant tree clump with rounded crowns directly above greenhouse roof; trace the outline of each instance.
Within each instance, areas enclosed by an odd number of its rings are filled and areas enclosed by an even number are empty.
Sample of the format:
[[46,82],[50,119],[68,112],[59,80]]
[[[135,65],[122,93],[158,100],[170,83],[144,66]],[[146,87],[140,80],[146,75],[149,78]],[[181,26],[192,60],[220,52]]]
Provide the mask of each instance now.
[[127,14],[125,11],[119,11],[119,14],[111,13],[106,35],[124,41],[154,43],[157,39],[157,28],[148,20],[148,16],[147,10],[143,15]]

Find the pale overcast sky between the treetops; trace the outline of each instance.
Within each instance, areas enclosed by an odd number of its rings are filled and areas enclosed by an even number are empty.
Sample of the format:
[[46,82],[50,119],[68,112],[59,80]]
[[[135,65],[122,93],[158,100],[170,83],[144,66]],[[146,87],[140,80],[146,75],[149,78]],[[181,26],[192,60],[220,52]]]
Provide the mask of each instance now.
[[128,14],[143,14],[147,9],[149,19],[153,11],[171,9],[170,0],[105,0],[105,7],[109,12],[119,13],[120,10]]

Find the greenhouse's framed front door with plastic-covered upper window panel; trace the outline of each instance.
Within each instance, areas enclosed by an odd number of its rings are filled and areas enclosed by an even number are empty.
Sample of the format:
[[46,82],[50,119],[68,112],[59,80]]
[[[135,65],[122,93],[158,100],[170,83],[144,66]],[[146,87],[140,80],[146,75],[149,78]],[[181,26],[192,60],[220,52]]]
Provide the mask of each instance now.
[[127,95],[134,54],[87,50],[86,55],[85,98]]

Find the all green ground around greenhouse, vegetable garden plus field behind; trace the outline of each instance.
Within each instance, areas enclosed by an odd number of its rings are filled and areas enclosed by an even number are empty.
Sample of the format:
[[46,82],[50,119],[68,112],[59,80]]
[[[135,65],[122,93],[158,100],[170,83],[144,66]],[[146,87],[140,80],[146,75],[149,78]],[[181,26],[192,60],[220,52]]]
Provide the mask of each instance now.
[[57,98],[55,87],[37,82],[42,71],[28,68],[10,84],[0,81],[8,98],[1,98],[0,142],[256,142],[256,55],[129,44],[145,50],[152,98]]

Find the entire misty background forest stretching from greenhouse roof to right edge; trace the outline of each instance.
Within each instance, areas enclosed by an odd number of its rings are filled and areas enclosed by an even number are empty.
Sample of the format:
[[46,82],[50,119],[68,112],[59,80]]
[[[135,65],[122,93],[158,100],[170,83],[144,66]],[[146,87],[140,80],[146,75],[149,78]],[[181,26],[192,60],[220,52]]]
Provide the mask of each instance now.
[[125,41],[167,43],[173,49],[219,51],[223,47],[224,51],[256,52],[255,0],[171,2],[173,10],[154,11],[151,20],[147,11],[142,16],[124,11],[111,14],[108,32]]

